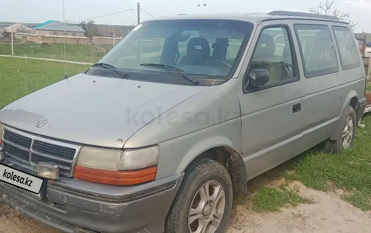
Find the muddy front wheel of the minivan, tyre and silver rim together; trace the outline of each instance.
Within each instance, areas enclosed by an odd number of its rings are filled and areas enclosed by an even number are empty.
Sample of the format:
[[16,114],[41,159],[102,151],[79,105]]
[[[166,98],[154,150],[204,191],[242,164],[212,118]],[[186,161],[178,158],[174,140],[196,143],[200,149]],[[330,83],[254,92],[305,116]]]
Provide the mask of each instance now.
[[[232,181],[226,168],[203,160],[188,169],[165,222],[165,233],[223,233],[232,210]],[[207,232],[207,231],[206,231]]]

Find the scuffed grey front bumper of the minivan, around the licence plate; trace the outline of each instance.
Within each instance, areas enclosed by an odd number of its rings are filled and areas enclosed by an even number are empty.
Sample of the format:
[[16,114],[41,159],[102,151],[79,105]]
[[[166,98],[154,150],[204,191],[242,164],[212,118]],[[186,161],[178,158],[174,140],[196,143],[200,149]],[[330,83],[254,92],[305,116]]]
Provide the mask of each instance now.
[[[15,161],[4,164],[35,175]],[[162,233],[183,174],[135,186],[62,178],[48,183],[42,200],[0,182],[0,199],[65,233]]]

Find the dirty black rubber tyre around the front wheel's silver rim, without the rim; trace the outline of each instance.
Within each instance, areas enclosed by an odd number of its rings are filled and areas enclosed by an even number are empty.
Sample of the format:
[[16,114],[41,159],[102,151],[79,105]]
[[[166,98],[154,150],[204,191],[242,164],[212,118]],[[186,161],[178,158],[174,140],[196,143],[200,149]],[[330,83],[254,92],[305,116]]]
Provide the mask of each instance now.
[[232,211],[232,181],[226,168],[214,160],[203,160],[188,169],[183,178],[165,222],[165,233],[189,233],[188,214],[200,187],[206,182],[216,180],[224,189],[225,209],[222,220],[215,233],[224,233]]

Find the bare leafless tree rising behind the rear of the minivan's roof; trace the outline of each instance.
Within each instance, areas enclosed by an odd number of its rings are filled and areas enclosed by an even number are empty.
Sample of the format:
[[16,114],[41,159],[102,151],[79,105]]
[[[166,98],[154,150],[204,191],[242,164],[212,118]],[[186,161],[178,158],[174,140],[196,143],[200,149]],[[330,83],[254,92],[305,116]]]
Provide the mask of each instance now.
[[348,22],[350,27],[354,30],[358,22],[355,23],[351,20],[352,17],[349,15],[349,12],[340,11],[334,7],[334,3],[335,0],[326,0],[325,2],[318,3],[316,6],[312,6],[308,9],[308,11],[315,14],[332,15],[338,17],[341,21]]

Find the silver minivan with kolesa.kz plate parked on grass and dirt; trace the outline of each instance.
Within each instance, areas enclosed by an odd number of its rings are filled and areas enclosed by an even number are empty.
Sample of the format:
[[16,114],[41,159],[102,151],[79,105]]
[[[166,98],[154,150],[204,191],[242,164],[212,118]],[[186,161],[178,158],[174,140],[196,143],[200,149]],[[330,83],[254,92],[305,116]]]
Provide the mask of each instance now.
[[365,76],[336,17],[148,20],[0,111],[0,199],[66,233],[222,233],[249,179],[352,147]]

